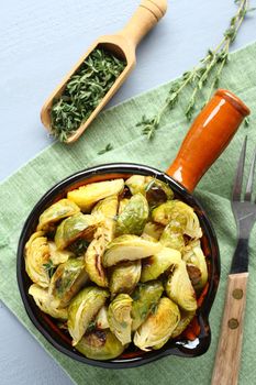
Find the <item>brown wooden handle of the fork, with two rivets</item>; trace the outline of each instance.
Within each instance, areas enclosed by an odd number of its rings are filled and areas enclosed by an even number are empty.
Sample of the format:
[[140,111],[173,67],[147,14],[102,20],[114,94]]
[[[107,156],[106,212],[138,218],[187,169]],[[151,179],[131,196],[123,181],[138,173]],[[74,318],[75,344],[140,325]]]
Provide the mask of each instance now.
[[236,385],[243,342],[248,273],[230,274],[212,385]]

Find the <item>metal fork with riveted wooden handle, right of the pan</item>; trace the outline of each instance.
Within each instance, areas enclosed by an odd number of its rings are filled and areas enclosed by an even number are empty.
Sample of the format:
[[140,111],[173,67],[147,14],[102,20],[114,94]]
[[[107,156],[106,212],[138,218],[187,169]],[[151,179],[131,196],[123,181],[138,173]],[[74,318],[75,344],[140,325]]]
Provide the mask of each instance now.
[[238,382],[248,279],[248,240],[256,222],[256,199],[253,200],[256,148],[251,164],[245,194],[243,194],[246,144],[247,136],[241,151],[232,193],[232,210],[237,227],[237,245],[227,279],[225,307],[212,385],[235,385]]

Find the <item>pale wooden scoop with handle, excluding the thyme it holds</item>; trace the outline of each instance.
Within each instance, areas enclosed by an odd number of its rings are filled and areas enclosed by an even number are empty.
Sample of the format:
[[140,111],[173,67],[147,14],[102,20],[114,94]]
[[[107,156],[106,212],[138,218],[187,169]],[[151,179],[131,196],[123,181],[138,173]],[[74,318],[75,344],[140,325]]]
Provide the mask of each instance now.
[[143,0],[140,7],[136,9],[133,16],[130,19],[124,29],[114,35],[104,35],[99,37],[87,51],[87,53],[77,62],[73,69],[67,74],[63,81],[53,91],[49,98],[44,103],[41,111],[41,120],[45,128],[51,132],[51,109],[53,100],[58,98],[69,80],[69,78],[76,73],[84,61],[96,47],[102,47],[113,53],[115,56],[124,59],[126,66],[122,74],[118,77],[111,89],[107,92],[104,98],[92,111],[90,117],[85,121],[78,130],[70,135],[66,143],[75,142],[82,132],[88,128],[92,120],[97,117],[100,110],[108,103],[112,96],[118,91],[120,86],[126,79],[131,70],[136,64],[135,51],[140,41],[146,35],[146,33],[164,16],[167,10],[167,0]]

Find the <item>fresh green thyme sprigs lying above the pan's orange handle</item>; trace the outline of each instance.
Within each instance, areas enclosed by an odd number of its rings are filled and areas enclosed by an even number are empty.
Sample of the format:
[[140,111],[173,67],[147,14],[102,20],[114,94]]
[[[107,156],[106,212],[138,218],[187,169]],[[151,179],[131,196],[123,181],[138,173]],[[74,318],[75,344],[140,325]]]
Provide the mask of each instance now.
[[141,122],[136,124],[136,127],[142,128],[142,133],[146,135],[148,140],[154,138],[156,131],[159,129],[160,120],[167,110],[170,111],[176,107],[186,87],[190,86],[192,88],[185,110],[185,116],[188,120],[191,120],[196,110],[198,95],[207,84],[209,85],[209,92],[204,105],[211,99],[214,88],[219,86],[223,68],[229,62],[230,46],[235,41],[245,15],[254,10],[254,8],[249,7],[249,0],[235,0],[235,4],[238,9],[231,19],[230,25],[218,46],[213,50],[209,50],[205,57],[202,58],[197,66],[183,73],[182,77],[175,81],[168,92],[165,103],[154,117],[147,118],[143,116]]

